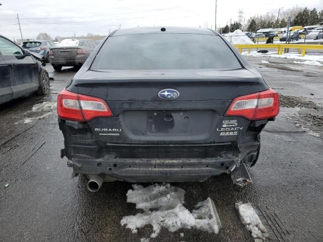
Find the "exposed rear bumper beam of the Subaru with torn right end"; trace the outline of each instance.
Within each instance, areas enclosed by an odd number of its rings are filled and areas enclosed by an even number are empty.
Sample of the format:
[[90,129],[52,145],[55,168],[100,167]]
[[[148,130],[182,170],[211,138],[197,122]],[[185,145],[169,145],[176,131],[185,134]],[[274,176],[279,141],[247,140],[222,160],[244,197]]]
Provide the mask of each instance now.
[[[95,165],[94,165],[95,164]],[[105,174],[119,180],[130,182],[183,182],[204,181],[222,173],[235,174],[234,183],[243,187],[247,177],[246,167],[239,158],[179,158],[179,159],[73,159],[68,161],[73,173]],[[242,167],[242,168],[241,168]],[[244,167],[244,168],[243,168]],[[238,177],[239,175],[241,177]],[[240,180],[243,180],[243,186]]]

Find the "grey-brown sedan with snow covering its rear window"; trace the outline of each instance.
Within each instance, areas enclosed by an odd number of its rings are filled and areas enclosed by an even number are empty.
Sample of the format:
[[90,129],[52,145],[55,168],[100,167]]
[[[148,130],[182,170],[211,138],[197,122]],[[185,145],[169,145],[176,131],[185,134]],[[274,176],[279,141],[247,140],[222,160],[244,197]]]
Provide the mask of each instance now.
[[64,39],[49,50],[49,62],[55,71],[62,67],[81,67],[97,44],[90,39]]

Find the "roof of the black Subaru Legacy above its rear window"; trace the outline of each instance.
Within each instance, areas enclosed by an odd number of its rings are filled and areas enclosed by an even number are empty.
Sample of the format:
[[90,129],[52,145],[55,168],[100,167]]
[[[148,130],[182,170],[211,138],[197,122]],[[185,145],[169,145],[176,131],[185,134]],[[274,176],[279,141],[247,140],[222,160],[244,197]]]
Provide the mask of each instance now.
[[[161,28],[165,28],[165,31],[161,31]],[[112,34],[112,36],[129,35],[129,34],[206,34],[206,35],[218,35],[209,29],[204,28],[187,28],[187,27],[139,27],[129,29],[119,29]]]

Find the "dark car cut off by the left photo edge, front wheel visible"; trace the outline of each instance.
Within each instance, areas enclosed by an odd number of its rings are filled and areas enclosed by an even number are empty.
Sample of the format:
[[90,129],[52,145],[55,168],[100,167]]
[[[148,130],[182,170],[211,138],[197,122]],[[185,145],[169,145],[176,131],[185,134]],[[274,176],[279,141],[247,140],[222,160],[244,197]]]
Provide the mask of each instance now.
[[41,57],[0,35],[0,104],[33,92],[49,93],[49,77]]

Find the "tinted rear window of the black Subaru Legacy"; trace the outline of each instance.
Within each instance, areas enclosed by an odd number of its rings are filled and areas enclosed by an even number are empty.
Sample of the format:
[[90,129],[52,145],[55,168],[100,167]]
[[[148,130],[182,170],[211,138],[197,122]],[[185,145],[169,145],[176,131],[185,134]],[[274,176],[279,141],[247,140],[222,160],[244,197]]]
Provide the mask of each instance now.
[[204,34],[133,34],[108,38],[92,70],[239,69],[224,40]]

